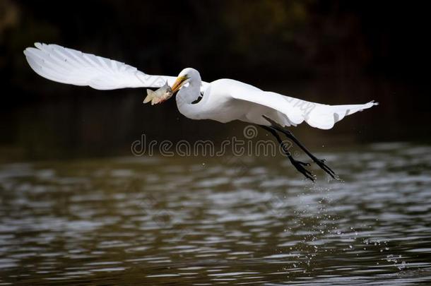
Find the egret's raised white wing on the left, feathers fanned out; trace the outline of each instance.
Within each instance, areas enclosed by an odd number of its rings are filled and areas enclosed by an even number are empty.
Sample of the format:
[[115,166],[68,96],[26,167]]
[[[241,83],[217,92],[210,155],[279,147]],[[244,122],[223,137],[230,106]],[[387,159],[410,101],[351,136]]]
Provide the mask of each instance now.
[[24,50],[28,64],[40,76],[59,83],[114,90],[160,88],[166,81],[172,85],[176,79],[174,76],[151,76],[128,64],[57,44],[35,43],[35,47]]

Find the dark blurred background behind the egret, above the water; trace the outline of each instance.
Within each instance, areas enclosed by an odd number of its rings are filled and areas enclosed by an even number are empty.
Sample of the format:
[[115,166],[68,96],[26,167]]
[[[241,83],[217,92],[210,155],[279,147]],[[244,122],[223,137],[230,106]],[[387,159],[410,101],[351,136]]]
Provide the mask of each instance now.
[[[244,124],[191,121],[144,89],[93,90],[34,73],[23,49],[56,43],[150,74],[198,69],[328,104],[380,105],[329,131],[294,129],[314,148],[429,142],[426,1],[0,0],[0,159],[130,155],[147,138],[223,140]],[[262,133],[263,134],[263,133]],[[263,135],[261,135],[263,136]]]

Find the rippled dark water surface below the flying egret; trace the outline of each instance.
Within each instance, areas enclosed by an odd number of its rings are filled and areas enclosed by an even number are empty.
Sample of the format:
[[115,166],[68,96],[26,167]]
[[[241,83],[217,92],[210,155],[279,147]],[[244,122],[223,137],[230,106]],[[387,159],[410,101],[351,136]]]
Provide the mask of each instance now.
[[319,156],[0,165],[0,285],[431,283],[431,147]]

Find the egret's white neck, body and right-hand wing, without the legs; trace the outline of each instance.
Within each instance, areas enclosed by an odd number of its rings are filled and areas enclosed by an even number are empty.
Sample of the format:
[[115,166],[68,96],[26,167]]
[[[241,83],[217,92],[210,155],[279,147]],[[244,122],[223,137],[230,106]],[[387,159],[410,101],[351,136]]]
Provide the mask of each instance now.
[[228,78],[208,83],[202,100],[192,104],[200,95],[197,88],[200,76],[193,68],[184,71],[194,76],[191,76],[189,86],[179,90],[177,106],[179,112],[190,119],[212,119],[222,123],[240,120],[269,126],[263,117],[266,116],[282,126],[296,126],[306,121],[319,129],[331,129],[346,115],[374,105],[374,102],[365,105],[322,105],[260,90]]

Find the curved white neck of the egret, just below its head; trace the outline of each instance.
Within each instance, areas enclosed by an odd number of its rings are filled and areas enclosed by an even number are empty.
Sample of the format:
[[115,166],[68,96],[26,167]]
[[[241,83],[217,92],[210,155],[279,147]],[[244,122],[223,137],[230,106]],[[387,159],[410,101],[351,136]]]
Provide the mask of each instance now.
[[[192,104],[199,98],[201,95],[201,83],[191,82],[189,86],[183,87],[177,93],[177,107],[179,112],[183,114],[185,117],[190,119],[201,119],[199,114],[201,113],[201,105],[200,104]],[[201,103],[201,102],[199,102]]]

